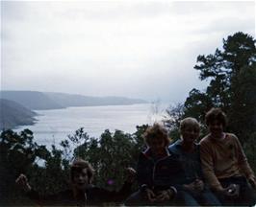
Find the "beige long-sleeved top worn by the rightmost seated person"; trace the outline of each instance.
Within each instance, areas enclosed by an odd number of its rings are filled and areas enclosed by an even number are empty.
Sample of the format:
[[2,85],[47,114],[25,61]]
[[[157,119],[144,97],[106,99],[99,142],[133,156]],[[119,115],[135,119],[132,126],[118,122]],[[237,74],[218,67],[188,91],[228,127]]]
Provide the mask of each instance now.
[[231,176],[254,177],[239,139],[234,134],[225,133],[221,140],[208,134],[200,141],[202,170],[214,191],[223,190],[218,179]]

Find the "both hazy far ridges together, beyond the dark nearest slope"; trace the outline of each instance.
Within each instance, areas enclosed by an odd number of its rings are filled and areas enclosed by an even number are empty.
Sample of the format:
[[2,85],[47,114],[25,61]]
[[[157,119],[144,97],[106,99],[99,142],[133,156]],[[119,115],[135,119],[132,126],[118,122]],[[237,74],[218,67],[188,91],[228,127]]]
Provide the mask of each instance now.
[[0,97],[22,104],[32,110],[58,109],[68,106],[145,104],[139,99],[124,97],[90,97],[38,91],[0,91]]

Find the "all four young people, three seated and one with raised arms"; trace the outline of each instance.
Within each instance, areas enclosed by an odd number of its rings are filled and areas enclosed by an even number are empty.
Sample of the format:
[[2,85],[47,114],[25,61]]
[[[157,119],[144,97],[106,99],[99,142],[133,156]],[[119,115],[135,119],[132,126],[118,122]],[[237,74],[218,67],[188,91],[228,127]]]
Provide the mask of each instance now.
[[[108,192],[91,185],[92,168],[80,160],[71,166],[72,189],[44,199],[79,206],[121,201],[127,196],[127,206],[254,205],[256,179],[238,138],[223,131],[226,115],[220,108],[213,108],[205,120],[209,134],[199,144],[195,141],[200,127],[191,117],[181,121],[180,139],[173,144],[165,127],[154,124],[146,129],[147,148],[141,151],[137,167],[140,189],[131,196],[131,177],[135,172],[129,170],[130,178],[119,192]],[[16,182],[32,199],[39,199],[24,174]]]

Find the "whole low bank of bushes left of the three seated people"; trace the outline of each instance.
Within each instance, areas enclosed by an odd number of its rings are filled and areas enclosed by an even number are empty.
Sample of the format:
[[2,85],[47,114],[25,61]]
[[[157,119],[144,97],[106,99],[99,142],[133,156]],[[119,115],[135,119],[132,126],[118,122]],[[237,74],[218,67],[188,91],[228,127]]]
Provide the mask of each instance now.
[[[34,142],[33,132],[5,130],[0,135],[0,205],[30,204],[20,194],[14,180],[25,173],[39,194],[55,194],[68,188],[69,165],[76,157],[88,160],[96,170],[94,183],[111,190],[119,189],[125,180],[125,169],[135,167],[143,148],[142,133],[147,126],[137,127],[134,134],[105,130],[96,139],[79,128],[60,148],[47,149]],[[4,179],[2,178],[4,177]],[[15,199],[14,199],[15,198]]]

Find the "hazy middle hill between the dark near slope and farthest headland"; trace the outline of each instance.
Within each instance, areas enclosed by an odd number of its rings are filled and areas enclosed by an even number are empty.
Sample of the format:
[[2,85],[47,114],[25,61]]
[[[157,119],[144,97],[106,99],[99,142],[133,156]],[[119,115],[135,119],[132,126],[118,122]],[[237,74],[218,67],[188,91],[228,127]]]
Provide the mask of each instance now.
[[64,108],[38,91],[1,91],[0,98],[14,101],[32,110]]

